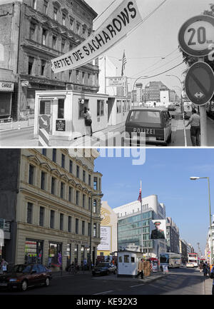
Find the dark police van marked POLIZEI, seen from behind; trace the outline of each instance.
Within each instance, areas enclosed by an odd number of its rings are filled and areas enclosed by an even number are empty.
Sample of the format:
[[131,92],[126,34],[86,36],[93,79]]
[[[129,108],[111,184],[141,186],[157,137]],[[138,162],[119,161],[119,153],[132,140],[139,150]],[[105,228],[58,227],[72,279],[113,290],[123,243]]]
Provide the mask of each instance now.
[[167,146],[171,142],[171,117],[167,108],[132,108],[126,118],[126,146]]

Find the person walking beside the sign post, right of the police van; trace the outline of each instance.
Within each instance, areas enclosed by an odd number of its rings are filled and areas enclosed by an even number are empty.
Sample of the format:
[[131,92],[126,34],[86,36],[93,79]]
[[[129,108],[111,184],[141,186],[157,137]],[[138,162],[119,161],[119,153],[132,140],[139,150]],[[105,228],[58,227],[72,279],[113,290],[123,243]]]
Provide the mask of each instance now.
[[198,115],[195,108],[192,110],[192,115],[187,123],[190,127],[190,138],[193,146],[200,146],[200,116]]

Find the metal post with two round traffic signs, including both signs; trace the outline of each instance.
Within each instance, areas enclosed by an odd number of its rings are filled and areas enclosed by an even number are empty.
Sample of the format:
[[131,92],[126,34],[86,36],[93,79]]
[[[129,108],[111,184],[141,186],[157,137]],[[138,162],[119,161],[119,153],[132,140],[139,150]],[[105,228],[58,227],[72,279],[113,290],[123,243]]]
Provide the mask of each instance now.
[[214,43],[214,18],[208,15],[194,16],[181,26],[178,33],[180,48],[188,55],[198,57],[198,62],[188,70],[185,78],[185,92],[200,108],[201,146],[207,146],[207,115],[205,104],[213,97],[213,69],[204,62]]

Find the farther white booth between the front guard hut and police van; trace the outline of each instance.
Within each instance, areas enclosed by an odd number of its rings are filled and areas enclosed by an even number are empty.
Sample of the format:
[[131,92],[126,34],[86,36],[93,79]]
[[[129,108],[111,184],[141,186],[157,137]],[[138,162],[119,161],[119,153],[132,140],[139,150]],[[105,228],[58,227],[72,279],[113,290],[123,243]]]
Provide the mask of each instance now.
[[125,122],[128,111],[131,109],[131,100],[124,96],[109,96],[107,103],[108,125],[115,126]]

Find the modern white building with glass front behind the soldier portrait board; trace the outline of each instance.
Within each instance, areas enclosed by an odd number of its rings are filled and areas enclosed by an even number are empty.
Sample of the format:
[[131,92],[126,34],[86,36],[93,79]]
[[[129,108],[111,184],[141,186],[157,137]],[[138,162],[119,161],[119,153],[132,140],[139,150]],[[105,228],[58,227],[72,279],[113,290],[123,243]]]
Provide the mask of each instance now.
[[[158,196],[142,198],[113,208],[118,216],[118,250],[136,250],[148,257],[157,257],[166,251],[166,240],[150,238],[150,221],[165,220],[165,206],[158,202]],[[142,239],[143,237],[143,239]]]

